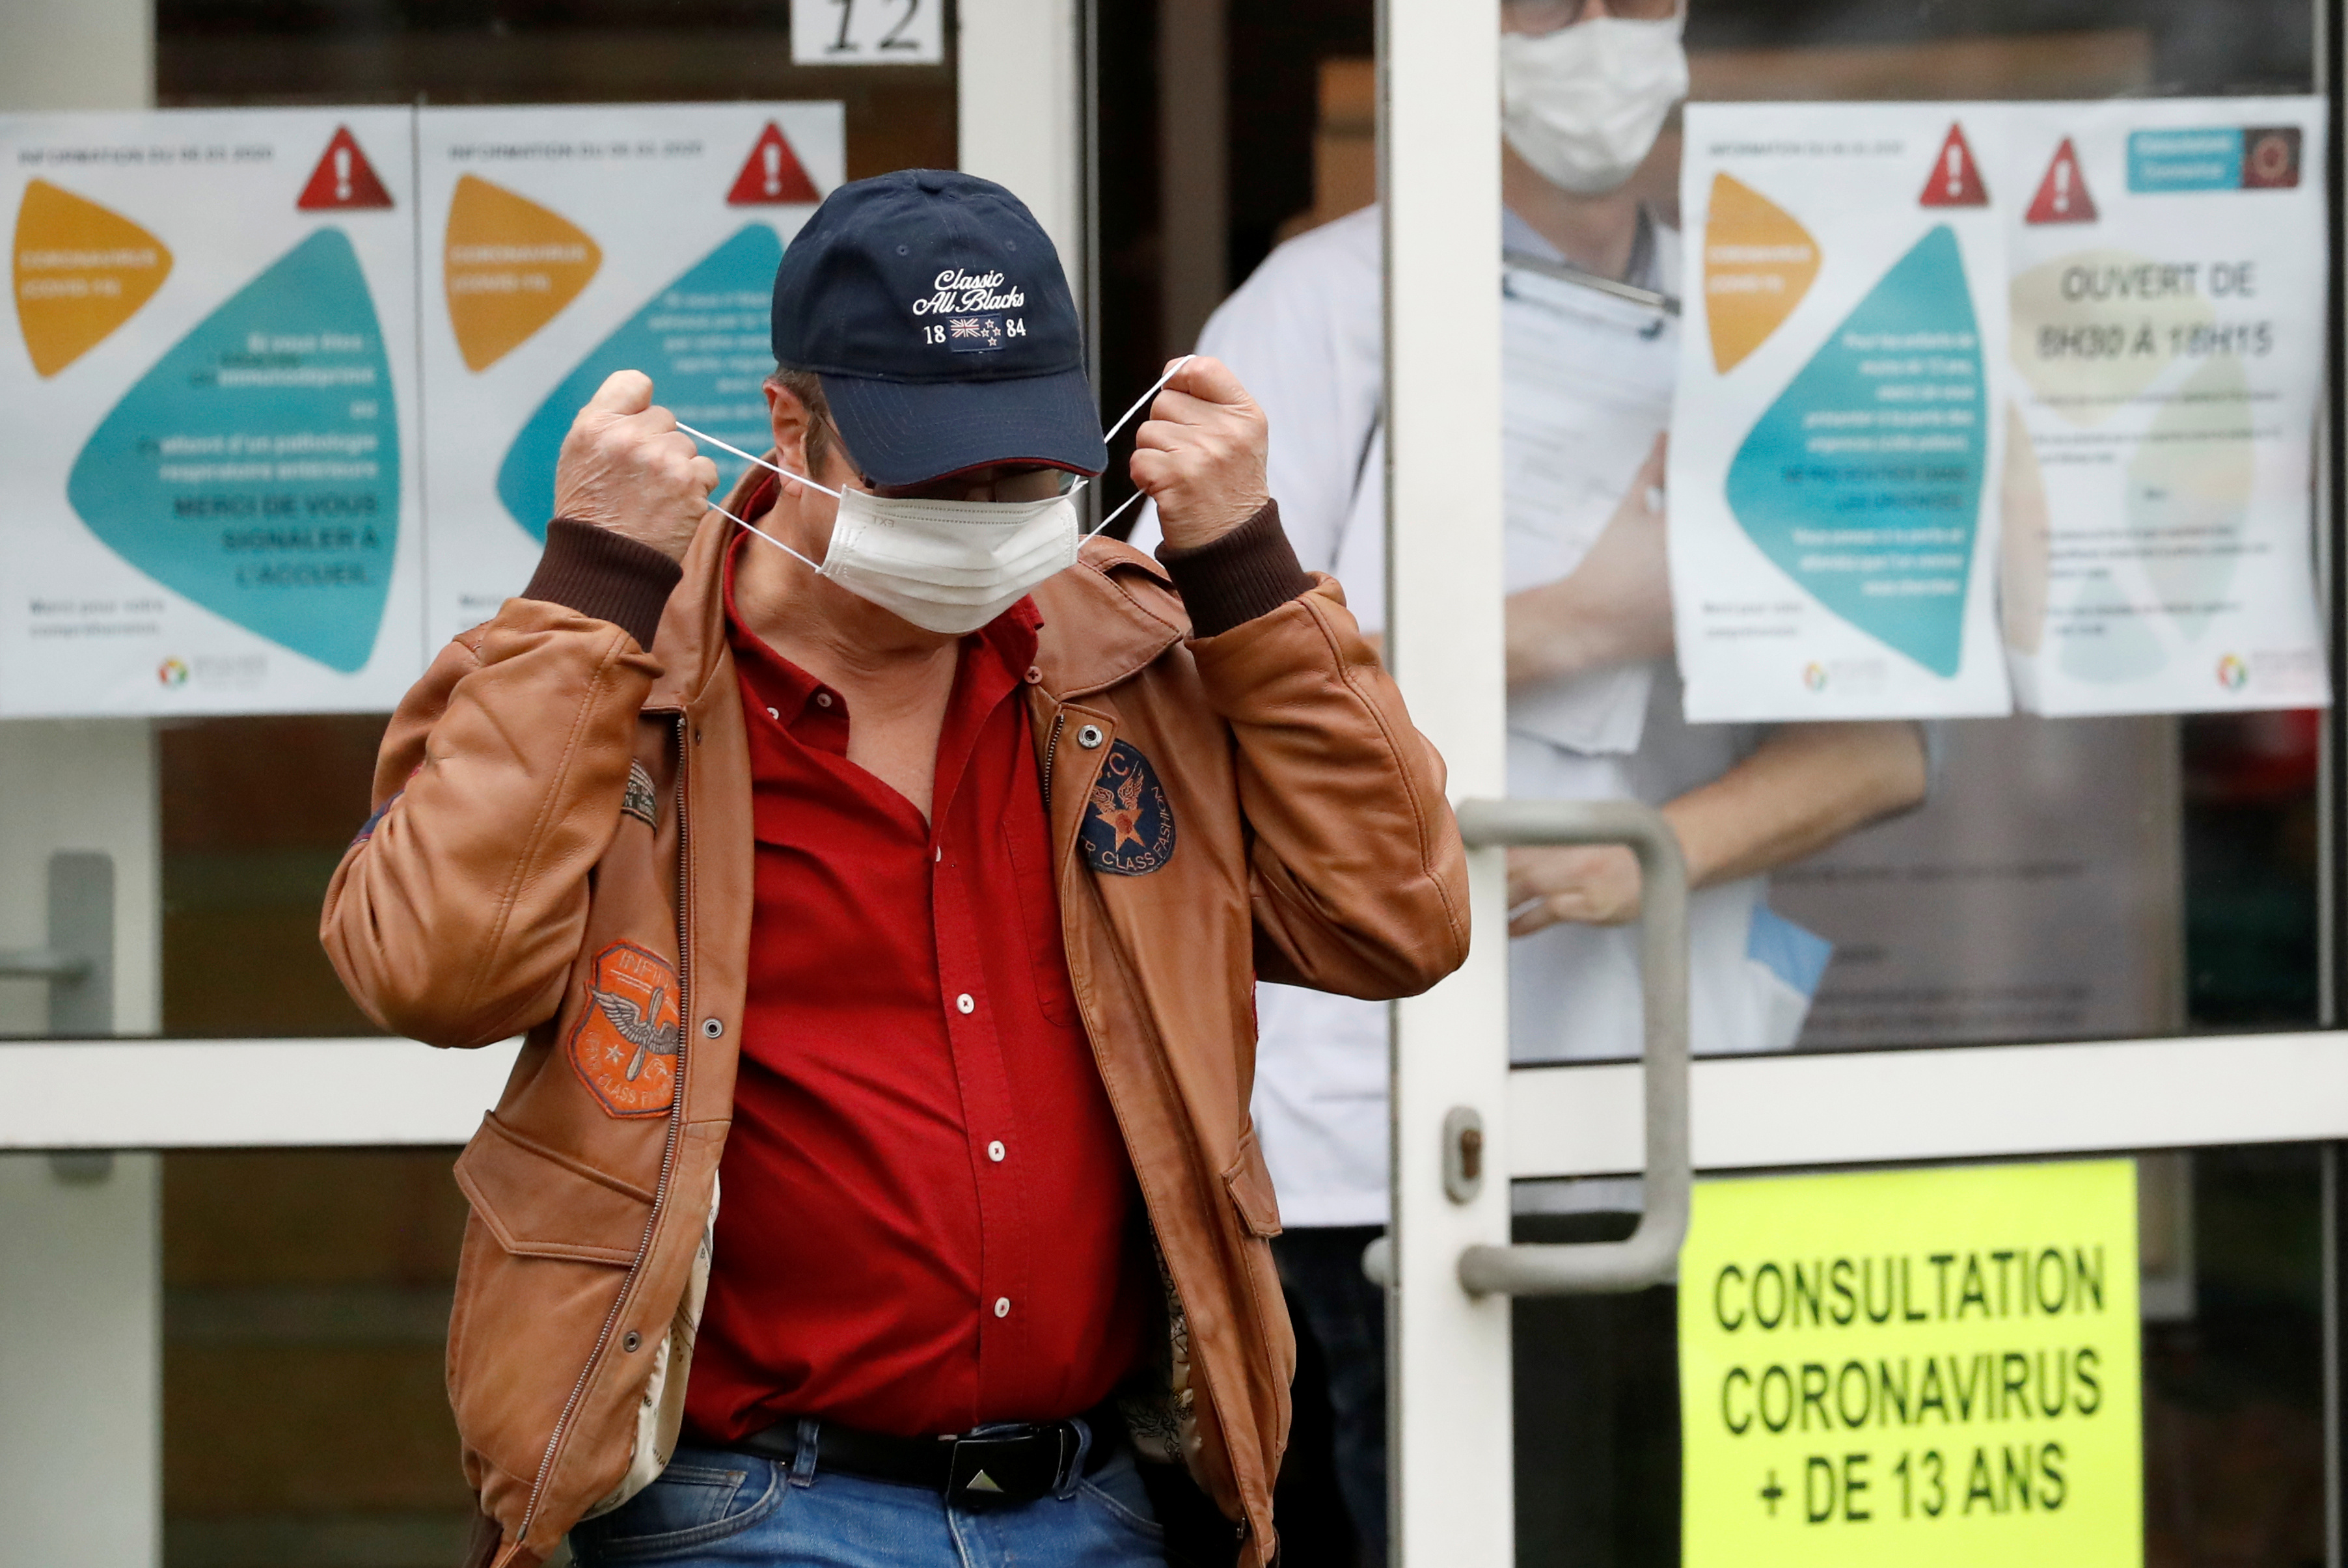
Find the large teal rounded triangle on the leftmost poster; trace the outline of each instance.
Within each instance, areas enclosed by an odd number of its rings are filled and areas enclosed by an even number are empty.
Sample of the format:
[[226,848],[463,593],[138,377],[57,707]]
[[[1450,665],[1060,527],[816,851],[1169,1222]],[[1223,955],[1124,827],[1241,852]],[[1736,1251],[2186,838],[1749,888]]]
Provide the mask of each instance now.
[[174,594],[362,669],[399,549],[399,415],[350,237],[312,232],[171,345],[82,446],[66,500]]

